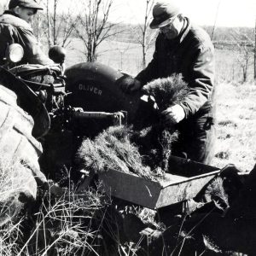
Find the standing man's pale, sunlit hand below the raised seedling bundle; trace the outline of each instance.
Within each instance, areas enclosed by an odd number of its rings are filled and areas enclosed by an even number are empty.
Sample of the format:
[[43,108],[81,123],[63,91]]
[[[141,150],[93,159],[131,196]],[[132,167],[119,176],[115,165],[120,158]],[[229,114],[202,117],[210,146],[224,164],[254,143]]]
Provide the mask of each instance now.
[[164,110],[161,114],[166,125],[176,125],[185,117],[183,107],[180,105],[174,105],[166,108],[166,110]]

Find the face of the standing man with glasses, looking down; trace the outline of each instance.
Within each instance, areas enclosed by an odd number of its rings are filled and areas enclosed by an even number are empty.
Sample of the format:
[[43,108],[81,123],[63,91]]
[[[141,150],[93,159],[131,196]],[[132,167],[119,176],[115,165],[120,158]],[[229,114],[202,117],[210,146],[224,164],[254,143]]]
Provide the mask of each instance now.
[[183,20],[180,20],[178,16],[172,18],[171,22],[160,27],[160,32],[163,33],[167,39],[177,38],[183,28]]

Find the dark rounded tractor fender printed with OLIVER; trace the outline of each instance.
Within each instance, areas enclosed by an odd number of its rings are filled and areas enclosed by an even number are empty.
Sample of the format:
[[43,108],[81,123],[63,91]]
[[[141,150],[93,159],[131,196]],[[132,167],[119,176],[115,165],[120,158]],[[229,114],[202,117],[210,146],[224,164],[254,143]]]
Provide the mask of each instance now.
[[139,107],[140,94],[125,94],[119,81],[125,74],[97,62],[68,67],[66,105],[84,111],[127,111],[131,123]]

